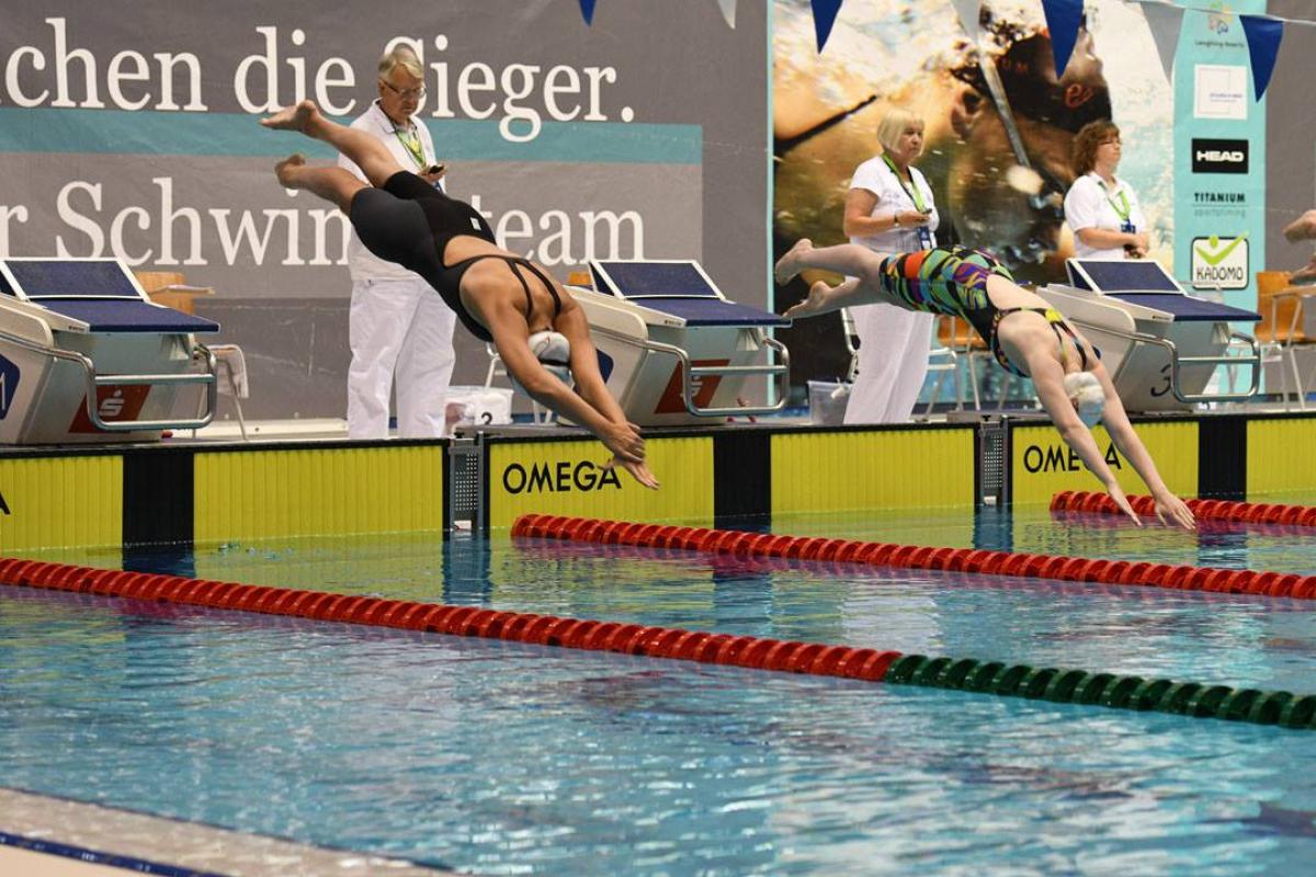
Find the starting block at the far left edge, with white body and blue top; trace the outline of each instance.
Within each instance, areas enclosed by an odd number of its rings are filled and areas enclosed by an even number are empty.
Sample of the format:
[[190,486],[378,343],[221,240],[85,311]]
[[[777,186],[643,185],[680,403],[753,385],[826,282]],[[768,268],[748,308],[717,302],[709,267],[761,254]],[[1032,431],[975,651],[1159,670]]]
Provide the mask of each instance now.
[[[147,298],[117,259],[0,259],[0,443],[159,440],[215,417],[209,320]],[[200,367],[200,371],[199,368]],[[171,418],[200,385],[193,418]]]

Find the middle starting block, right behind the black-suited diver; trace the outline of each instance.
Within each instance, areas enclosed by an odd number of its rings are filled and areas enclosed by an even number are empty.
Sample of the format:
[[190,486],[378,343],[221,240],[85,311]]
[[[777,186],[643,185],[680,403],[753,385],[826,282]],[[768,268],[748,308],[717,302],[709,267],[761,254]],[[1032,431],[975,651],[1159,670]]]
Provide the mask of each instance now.
[[[584,309],[608,391],[641,426],[770,414],[790,396],[790,354],[767,330],[776,314],[729,301],[694,260],[591,262],[592,289],[567,287]],[[763,376],[775,402],[746,405]],[[767,393],[766,398],[772,398]]]

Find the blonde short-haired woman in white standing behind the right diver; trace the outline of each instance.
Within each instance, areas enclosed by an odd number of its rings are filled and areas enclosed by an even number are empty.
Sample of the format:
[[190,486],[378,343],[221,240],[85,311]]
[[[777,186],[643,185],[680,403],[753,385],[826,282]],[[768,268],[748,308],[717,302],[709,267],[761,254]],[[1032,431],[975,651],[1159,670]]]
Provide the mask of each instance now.
[[[923,120],[904,108],[882,117],[882,154],[854,171],[845,196],[842,229],[850,243],[887,252],[937,245],[937,205],[926,178],[913,166],[923,154]],[[882,304],[855,308],[850,316],[859,337],[859,373],[845,422],[908,421],[928,373],[936,317]]]

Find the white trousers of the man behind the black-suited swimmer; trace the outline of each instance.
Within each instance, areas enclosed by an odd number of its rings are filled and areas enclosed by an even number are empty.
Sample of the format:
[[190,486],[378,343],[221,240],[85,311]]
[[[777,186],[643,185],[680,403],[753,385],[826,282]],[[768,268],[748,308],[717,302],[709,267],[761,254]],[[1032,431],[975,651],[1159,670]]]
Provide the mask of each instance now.
[[438,438],[453,377],[457,314],[424,280],[351,284],[347,437],[388,438],[388,396],[397,383],[397,434]]

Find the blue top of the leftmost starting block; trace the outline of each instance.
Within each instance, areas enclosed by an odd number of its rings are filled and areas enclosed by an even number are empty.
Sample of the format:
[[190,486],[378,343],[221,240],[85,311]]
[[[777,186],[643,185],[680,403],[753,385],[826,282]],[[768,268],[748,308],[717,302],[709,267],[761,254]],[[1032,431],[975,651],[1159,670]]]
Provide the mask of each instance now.
[[215,333],[212,320],[153,304],[117,259],[3,259],[0,293],[93,333]]

